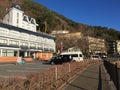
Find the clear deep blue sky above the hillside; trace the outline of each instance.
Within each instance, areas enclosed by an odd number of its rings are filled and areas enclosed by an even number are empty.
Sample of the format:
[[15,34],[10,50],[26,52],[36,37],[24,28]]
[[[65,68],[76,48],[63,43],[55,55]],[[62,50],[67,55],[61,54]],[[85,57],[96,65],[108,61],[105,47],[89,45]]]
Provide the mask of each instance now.
[[120,0],[34,0],[73,21],[120,31]]

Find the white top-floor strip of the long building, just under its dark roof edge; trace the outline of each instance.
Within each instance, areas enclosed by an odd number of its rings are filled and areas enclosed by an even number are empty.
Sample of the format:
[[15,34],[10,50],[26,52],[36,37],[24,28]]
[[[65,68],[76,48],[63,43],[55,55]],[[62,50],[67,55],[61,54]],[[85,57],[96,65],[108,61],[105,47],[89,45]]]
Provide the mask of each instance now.
[[30,41],[38,41],[38,42],[45,41],[45,43],[47,43],[47,44],[50,44],[50,43],[54,44],[54,40],[52,40],[52,39],[43,38],[43,37],[39,37],[39,36],[35,36],[35,35],[30,35],[27,33],[22,33],[22,32],[18,32],[18,31],[14,31],[14,30],[0,28],[0,34],[9,36],[12,38],[18,38],[18,39],[24,39],[24,40],[30,40]]

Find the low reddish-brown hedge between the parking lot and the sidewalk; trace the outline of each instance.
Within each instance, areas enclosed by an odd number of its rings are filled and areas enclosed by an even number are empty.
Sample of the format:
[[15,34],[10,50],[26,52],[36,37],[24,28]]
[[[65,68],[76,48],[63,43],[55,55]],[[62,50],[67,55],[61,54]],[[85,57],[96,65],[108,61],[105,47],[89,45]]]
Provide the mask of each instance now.
[[26,77],[1,79],[0,90],[57,90],[88,65],[99,62],[99,60],[86,60],[65,63],[55,65],[41,73],[31,73]]

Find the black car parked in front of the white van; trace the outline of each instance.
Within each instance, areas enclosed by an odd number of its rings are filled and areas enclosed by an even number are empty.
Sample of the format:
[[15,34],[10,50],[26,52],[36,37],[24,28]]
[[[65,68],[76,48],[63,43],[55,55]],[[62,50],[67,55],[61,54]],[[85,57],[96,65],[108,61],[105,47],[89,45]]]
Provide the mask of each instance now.
[[50,64],[62,64],[66,62],[70,62],[70,56],[69,55],[59,55],[56,57],[52,57],[49,61]]

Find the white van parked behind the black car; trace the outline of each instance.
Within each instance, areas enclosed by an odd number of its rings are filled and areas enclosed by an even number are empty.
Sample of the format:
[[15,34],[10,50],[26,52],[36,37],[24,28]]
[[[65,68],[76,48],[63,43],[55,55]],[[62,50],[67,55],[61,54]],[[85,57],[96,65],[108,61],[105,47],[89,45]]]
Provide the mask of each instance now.
[[81,51],[63,52],[61,55],[68,55],[73,61],[83,61],[83,54]]

